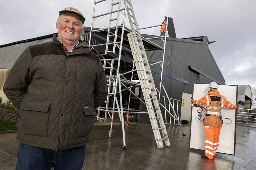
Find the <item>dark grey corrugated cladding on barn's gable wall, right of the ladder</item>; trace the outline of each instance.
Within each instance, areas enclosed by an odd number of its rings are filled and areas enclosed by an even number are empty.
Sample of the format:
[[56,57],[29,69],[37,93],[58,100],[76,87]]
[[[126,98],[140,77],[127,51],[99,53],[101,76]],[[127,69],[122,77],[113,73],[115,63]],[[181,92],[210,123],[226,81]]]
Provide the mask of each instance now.
[[[173,38],[174,39],[174,38]],[[163,44],[161,39],[153,39],[158,45]],[[206,73],[209,77],[225,83],[221,72],[219,71],[213,57],[208,49],[208,46],[202,42],[196,41],[166,41],[165,64],[164,72],[174,75],[184,80],[188,80],[188,65]],[[160,61],[162,59],[162,51],[147,52],[148,61]],[[153,66],[156,69],[161,69],[160,65]]]

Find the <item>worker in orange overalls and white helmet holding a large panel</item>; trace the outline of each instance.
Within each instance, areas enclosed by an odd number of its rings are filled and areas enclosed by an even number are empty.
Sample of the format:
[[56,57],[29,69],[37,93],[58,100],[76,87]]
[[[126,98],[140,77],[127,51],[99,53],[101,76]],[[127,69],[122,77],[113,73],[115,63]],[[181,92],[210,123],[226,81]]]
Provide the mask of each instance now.
[[209,84],[210,91],[208,94],[199,100],[191,101],[196,105],[205,104],[205,117],[204,117],[204,133],[205,133],[205,153],[201,156],[209,159],[213,159],[219,146],[219,137],[221,132],[221,126],[223,124],[221,118],[221,108],[226,106],[229,109],[237,109],[236,105],[233,105],[226,98],[218,92],[218,84],[211,82]]

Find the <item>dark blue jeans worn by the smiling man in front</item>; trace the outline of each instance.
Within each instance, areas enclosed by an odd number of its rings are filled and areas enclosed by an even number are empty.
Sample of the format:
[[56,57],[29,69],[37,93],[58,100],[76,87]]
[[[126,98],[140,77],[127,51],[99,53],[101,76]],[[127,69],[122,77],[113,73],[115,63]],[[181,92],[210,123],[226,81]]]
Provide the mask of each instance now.
[[85,146],[68,150],[51,150],[20,144],[16,170],[81,170]]

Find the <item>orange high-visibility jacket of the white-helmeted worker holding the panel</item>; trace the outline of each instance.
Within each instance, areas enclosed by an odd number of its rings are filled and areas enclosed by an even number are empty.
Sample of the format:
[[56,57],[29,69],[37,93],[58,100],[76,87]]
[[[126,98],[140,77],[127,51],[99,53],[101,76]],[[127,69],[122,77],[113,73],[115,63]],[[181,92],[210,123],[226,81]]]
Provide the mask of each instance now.
[[221,101],[220,101],[221,107],[225,106],[229,109],[237,109],[237,106],[233,105],[224,96],[220,95],[218,90],[210,90],[208,92],[208,94],[205,95],[204,97],[202,97],[201,99],[193,100],[193,103],[197,104],[197,105],[204,105],[205,104],[205,106],[208,107],[211,103],[211,97],[210,96],[220,96],[221,97]]

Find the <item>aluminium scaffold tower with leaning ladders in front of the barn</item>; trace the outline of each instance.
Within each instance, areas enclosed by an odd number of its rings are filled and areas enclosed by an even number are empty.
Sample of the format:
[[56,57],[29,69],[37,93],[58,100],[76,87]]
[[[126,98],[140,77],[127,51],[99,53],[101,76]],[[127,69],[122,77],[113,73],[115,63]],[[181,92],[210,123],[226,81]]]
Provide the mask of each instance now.
[[[165,106],[162,104],[159,105],[161,89],[165,91],[167,98],[169,99],[164,86],[162,85],[162,76],[163,76],[163,64],[164,64],[164,55],[165,55],[165,46],[166,46],[166,35],[158,36],[153,38],[161,38],[164,41],[164,47],[161,47],[154,42],[150,41],[152,38],[144,38],[141,36],[140,31],[142,29],[158,27],[161,25],[155,25],[151,27],[139,28],[138,23],[135,17],[135,13],[133,10],[133,6],[130,0],[110,0],[110,11],[108,13],[95,15],[96,5],[100,3],[104,3],[109,0],[95,0],[93,7],[93,15],[91,21],[91,29],[90,29],[90,38],[89,38],[89,46],[90,50],[94,50],[102,59],[103,67],[108,81],[108,97],[105,101],[105,107],[98,108],[98,116],[97,119],[102,119],[103,121],[107,121],[107,117],[109,115],[111,119],[109,137],[112,137],[112,129],[113,129],[113,119],[114,114],[118,113],[120,122],[122,124],[122,132],[123,132],[123,149],[126,148],[125,143],[125,129],[124,129],[124,113],[137,113],[137,114],[148,114],[150,118],[150,123],[152,126],[153,134],[155,137],[157,148],[163,148],[164,146],[170,146],[170,141],[166,132],[166,125],[164,123],[162,113],[160,110],[160,106],[162,106],[165,110]],[[123,14],[122,19],[120,19],[120,13]],[[93,27],[94,22],[97,18],[109,15],[109,24],[107,28],[95,29]],[[125,23],[128,21],[128,27]],[[168,26],[168,18],[166,21],[166,27]],[[101,35],[106,38],[106,43],[104,44],[93,44],[92,36]],[[95,47],[101,46],[105,47],[105,54],[100,54]],[[121,67],[121,55],[123,47],[129,48],[133,57],[133,65],[132,69],[128,72],[120,72]],[[147,59],[146,50],[150,50],[151,48],[157,48],[159,50],[164,50],[163,60],[155,61],[152,64],[149,64]],[[119,51],[118,58],[108,58],[107,55],[109,53],[116,53]],[[154,64],[161,64],[161,76],[159,90],[155,86],[153,76],[150,70],[150,66]],[[135,67],[135,68],[134,68]],[[137,74],[137,81],[134,81],[134,72]],[[128,80],[125,75],[130,74],[131,77]],[[140,87],[142,90],[143,98],[138,97],[132,89]],[[123,107],[122,102],[122,91],[129,91],[129,101],[128,108]],[[158,92],[158,94],[157,94]],[[158,98],[157,98],[157,95]],[[134,96],[134,97],[131,97]],[[130,109],[130,99],[136,98],[142,104],[146,105],[147,111],[140,111],[136,109]],[[111,100],[112,99],[112,100]],[[109,106],[110,100],[112,101],[112,106]],[[179,122],[177,114],[172,106],[172,103],[169,99],[169,106],[173,109],[173,115],[168,111],[170,116],[172,116],[180,125],[183,135],[185,132]],[[104,116],[100,117],[100,112],[104,112]],[[128,117],[128,116],[127,116]]]

